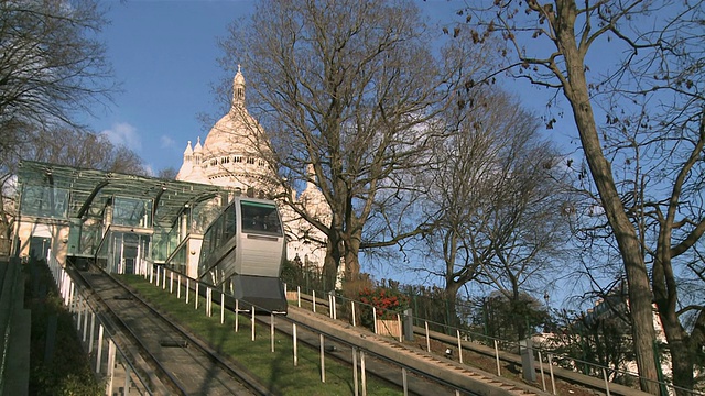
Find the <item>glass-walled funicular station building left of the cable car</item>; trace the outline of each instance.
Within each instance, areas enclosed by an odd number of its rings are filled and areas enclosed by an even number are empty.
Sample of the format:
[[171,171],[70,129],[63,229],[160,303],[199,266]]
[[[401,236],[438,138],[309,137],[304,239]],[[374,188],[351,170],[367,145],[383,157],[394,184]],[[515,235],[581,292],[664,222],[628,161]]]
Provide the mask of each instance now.
[[24,161],[12,252],[143,273],[165,264],[196,277],[203,232],[225,187]]

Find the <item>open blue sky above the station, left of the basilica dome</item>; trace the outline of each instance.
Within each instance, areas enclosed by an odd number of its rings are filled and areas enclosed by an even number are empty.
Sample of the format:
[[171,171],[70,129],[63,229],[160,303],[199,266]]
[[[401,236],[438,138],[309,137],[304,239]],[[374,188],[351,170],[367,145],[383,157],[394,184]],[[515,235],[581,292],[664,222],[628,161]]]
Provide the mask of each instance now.
[[[205,139],[199,113],[219,118],[210,85],[231,77],[217,58],[217,41],[230,22],[249,15],[250,0],[106,0],[101,38],[121,91],[95,110],[88,123],[113,143],[135,151],[156,173],[178,169],[188,141]],[[420,7],[452,18],[459,1],[430,0]],[[242,70],[247,78],[247,70]]]

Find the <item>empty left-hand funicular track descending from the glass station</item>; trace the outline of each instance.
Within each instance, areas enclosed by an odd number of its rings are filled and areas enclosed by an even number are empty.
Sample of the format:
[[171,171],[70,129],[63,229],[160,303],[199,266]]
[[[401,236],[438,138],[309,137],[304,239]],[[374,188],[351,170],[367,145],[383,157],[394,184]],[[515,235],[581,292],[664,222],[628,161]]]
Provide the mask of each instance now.
[[[142,370],[158,377],[152,394],[275,395],[236,362],[220,356],[195,336],[172,322],[128,287],[100,270],[69,271],[83,283],[87,298],[110,323],[116,343],[131,351]],[[137,364],[140,365],[140,364]]]

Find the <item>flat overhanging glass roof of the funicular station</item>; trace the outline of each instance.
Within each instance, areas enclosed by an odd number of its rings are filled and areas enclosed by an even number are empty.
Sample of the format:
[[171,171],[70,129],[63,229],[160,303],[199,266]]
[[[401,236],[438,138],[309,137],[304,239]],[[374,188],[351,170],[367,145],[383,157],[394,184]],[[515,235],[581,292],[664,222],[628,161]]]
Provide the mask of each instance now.
[[186,207],[226,196],[227,189],[214,185],[84,169],[33,161],[20,163],[18,176],[25,185],[70,190],[68,216],[82,218],[91,209],[100,211],[113,196],[152,199],[154,224],[171,227]]

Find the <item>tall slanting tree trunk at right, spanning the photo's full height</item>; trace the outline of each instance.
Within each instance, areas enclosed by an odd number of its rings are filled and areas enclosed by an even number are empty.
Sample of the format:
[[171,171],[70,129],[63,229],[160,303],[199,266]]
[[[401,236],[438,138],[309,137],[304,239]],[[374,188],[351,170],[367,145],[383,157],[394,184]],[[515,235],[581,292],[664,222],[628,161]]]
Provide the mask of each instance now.
[[587,164],[622,256],[629,287],[631,328],[637,366],[641,376],[641,389],[655,395],[659,393],[659,376],[653,351],[655,331],[647,266],[637,231],[625,212],[615,186],[611,166],[600,146],[585,79],[584,54],[575,42],[576,6],[570,0],[556,1],[556,4],[558,6],[558,14],[555,16],[556,43],[563,53],[567,74],[563,89],[571,102]]

